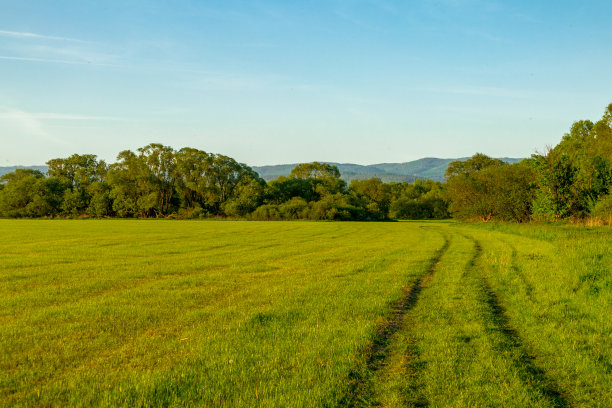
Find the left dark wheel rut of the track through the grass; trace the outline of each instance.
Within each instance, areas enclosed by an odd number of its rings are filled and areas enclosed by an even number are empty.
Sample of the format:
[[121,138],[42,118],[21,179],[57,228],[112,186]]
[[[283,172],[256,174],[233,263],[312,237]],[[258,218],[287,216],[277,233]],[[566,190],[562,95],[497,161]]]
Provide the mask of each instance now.
[[[362,353],[361,367],[353,369],[348,376],[348,391],[340,398],[337,406],[339,407],[369,407],[378,405],[375,401],[375,390],[373,389],[372,379],[374,375],[386,365],[392,345],[392,337],[400,329],[405,326],[405,315],[416,305],[419,294],[423,290],[423,282],[430,279],[440,263],[442,255],[450,246],[450,240],[447,235],[441,234],[444,237],[444,245],[436,250],[431,258],[425,273],[417,278],[412,286],[403,288],[403,295],[391,303],[389,306],[389,317],[376,327],[372,342]],[[411,347],[411,358],[417,355],[416,346]],[[414,364],[409,364],[409,367],[418,370]],[[414,376],[415,374],[413,374]],[[424,399],[419,399],[416,406],[428,406],[428,402]]]

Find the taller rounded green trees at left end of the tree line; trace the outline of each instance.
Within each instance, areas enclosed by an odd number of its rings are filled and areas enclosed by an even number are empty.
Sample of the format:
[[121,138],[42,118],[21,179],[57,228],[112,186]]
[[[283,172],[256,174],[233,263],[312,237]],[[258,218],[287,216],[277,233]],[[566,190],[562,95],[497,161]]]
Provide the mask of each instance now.
[[262,203],[265,188],[230,157],[157,143],[122,151],[110,166],[90,154],[47,165],[47,177],[17,169],[0,179],[0,216],[245,216]]

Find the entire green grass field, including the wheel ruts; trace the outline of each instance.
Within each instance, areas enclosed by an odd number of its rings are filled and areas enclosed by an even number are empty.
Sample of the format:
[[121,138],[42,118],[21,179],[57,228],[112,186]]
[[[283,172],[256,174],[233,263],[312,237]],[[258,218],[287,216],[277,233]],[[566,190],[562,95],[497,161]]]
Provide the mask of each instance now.
[[612,406],[612,231],[0,220],[2,406]]

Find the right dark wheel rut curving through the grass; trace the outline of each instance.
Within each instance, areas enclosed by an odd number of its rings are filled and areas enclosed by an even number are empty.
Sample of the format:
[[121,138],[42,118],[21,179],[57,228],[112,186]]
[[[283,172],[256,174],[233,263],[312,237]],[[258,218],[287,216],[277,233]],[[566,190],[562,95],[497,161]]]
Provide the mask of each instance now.
[[[501,340],[496,341],[498,352],[509,352],[509,357],[512,366],[516,369],[519,378],[526,387],[534,389],[536,392],[546,398],[552,407],[570,407],[566,393],[546,374],[546,372],[537,366],[536,357],[530,354],[523,344],[518,331],[512,327],[508,313],[499,296],[489,283],[489,280],[482,273],[477,272],[477,262],[482,256],[482,246],[474,237],[463,235],[466,239],[474,243],[475,254],[468,264],[464,276],[473,274],[477,278],[480,292],[483,295],[482,301],[487,304],[490,311],[490,322],[492,325],[485,325],[489,333],[498,332],[501,334]],[[513,249],[513,261],[516,256],[516,250]],[[514,262],[513,262],[514,263]],[[487,317],[485,316],[485,319]]]

